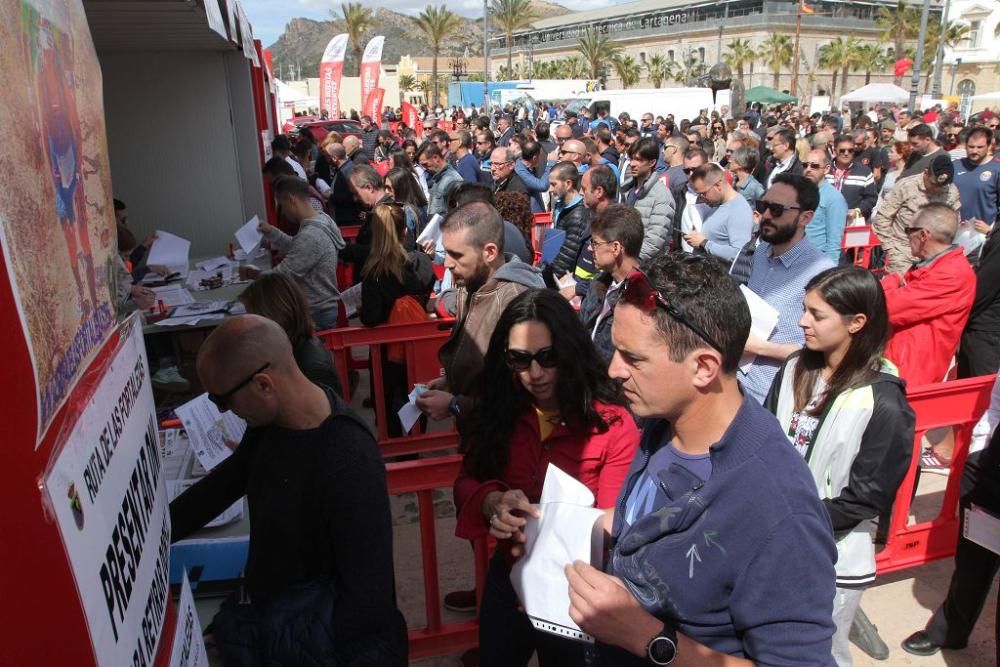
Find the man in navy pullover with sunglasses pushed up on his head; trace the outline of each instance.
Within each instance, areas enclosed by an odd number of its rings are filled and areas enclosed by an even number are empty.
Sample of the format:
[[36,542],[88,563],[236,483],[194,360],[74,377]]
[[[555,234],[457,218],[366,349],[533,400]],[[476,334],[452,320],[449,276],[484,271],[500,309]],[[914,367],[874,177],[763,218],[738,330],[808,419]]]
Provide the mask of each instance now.
[[829,516],[777,422],[740,391],[749,332],[718,260],[661,256],[626,279],[608,372],[645,428],[604,515],[604,572],[566,568],[570,617],[597,640],[589,664],[835,664]]

